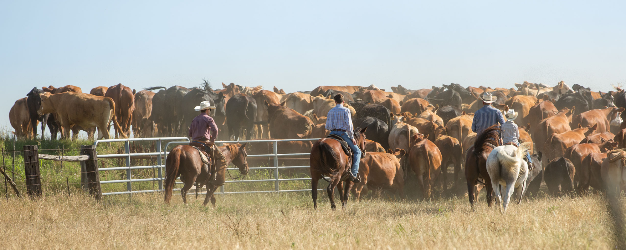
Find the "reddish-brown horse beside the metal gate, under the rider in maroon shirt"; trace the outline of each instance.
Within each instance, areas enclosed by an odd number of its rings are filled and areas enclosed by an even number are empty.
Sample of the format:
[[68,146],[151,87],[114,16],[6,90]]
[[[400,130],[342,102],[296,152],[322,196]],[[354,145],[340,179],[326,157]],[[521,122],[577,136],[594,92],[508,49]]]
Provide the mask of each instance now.
[[[248,162],[246,157],[248,154],[245,152],[244,144],[230,144],[226,146],[217,147],[220,149],[226,161],[226,166],[232,163],[241,174],[248,174],[250,168],[248,168]],[[213,160],[213,159],[212,159]],[[215,196],[213,192],[217,189],[217,186],[210,185],[207,181],[209,179],[209,171],[207,164],[202,163],[200,158],[200,152],[198,149],[189,145],[178,145],[170,151],[170,154],[165,161],[165,202],[170,203],[172,199],[172,189],[176,183],[176,179],[180,176],[180,180],[185,183],[180,194],[183,196],[183,203],[187,204],[187,191],[192,188],[194,183],[200,183],[199,188],[203,185],[207,185],[207,196],[204,198],[203,206],[207,206],[209,198],[213,207],[215,207]],[[224,169],[218,169],[217,171],[228,171]],[[225,174],[225,173],[223,173]]]

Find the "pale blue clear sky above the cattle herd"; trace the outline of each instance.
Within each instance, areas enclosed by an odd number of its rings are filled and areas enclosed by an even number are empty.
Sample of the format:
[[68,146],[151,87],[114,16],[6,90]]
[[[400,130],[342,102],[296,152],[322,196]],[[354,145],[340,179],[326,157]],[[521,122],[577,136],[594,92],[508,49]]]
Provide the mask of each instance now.
[[626,83],[623,1],[2,1],[0,125],[37,86]]

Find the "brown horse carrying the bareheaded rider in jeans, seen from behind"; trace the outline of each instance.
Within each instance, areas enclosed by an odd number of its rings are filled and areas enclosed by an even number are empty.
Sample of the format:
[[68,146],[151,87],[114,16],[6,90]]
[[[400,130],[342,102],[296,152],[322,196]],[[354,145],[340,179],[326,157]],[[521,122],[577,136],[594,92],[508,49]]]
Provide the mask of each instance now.
[[[365,151],[365,131],[364,129],[354,129],[354,140],[361,149],[362,155]],[[349,176],[351,159],[344,153],[341,143],[336,139],[322,138],[313,144],[310,154],[310,171],[311,171],[311,197],[313,198],[313,207],[317,208],[317,182],[322,178],[322,174],[331,178],[326,192],[331,200],[331,208],[336,209],[334,190],[339,189],[339,199],[341,199],[341,207],[346,208],[350,189],[352,189],[352,181],[346,181]],[[345,187],[342,186],[345,182]]]

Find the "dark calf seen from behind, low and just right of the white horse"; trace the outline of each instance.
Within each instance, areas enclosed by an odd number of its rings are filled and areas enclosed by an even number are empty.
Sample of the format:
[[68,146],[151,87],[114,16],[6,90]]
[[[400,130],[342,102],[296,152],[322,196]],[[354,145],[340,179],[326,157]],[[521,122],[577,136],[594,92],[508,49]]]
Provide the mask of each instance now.
[[572,161],[565,158],[552,159],[543,173],[543,180],[552,196],[573,196],[576,169]]

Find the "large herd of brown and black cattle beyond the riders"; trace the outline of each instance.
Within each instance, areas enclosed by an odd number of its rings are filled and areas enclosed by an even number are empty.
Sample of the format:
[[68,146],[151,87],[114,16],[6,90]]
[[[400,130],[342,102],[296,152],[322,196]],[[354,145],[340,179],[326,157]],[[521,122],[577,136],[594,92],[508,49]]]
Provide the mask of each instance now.
[[[391,92],[374,85],[319,86],[287,94],[276,87],[269,91],[233,83],[212,89],[205,81],[194,88],[153,87],[138,92],[117,84],[86,94],[76,86],[50,86],[33,88],[16,101],[9,118],[14,133],[22,138],[44,139],[47,126],[51,139],[57,134],[69,138],[70,130],[73,139],[80,130],[93,138],[96,129],[98,139],[108,139],[111,124],[121,138],[131,133],[136,138],[187,136],[190,122],[199,114],[193,108],[210,101],[216,107],[211,116],[220,129],[220,140],[323,138],[328,134],[326,114],[335,105],[332,96],[341,93],[355,128],[367,127],[367,151],[379,152],[362,159],[357,199],[367,188],[396,190],[404,196],[409,169],[418,176],[423,196],[430,197],[437,185],[444,192],[449,192],[448,186],[459,194],[467,190],[464,161],[476,140],[471,124],[482,107],[482,94],[490,92],[497,97],[494,107],[518,112],[520,139],[532,143],[536,168],[528,174],[526,194],[536,193],[543,179],[552,194],[575,195],[588,192],[589,187],[603,190],[607,184],[624,187],[626,93],[614,88],[602,93],[563,81],[553,87],[525,81],[510,89],[451,83],[418,90],[398,85]],[[303,152],[309,152],[311,145],[308,141],[279,144]],[[450,165],[452,183],[448,174],[441,174]],[[478,183],[473,188],[480,191],[480,179]]]

